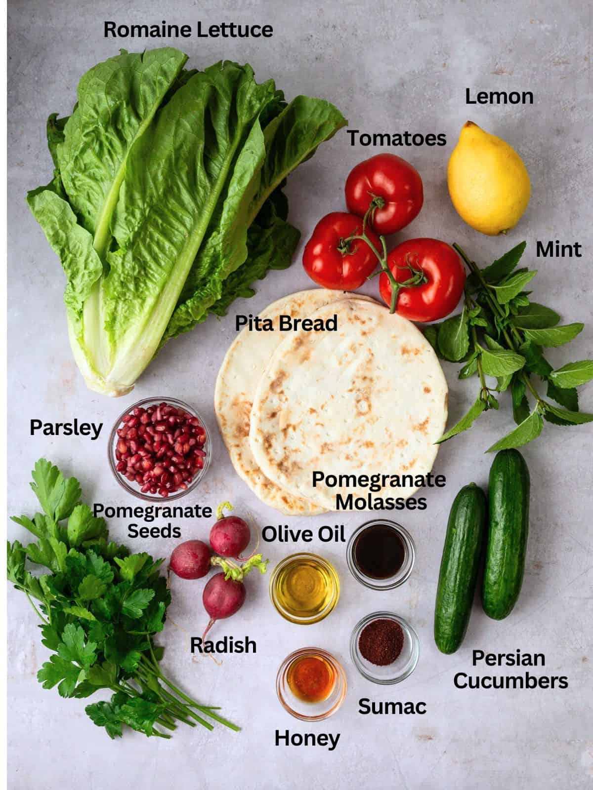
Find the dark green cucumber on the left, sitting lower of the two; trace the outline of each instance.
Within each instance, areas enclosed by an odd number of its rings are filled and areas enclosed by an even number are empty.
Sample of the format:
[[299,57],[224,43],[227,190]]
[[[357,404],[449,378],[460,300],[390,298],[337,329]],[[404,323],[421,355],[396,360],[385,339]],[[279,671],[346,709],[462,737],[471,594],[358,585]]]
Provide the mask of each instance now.
[[464,486],[451,506],[440,561],[434,611],[434,641],[455,653],[466,635],[486,536],[488,503],[475,483]]

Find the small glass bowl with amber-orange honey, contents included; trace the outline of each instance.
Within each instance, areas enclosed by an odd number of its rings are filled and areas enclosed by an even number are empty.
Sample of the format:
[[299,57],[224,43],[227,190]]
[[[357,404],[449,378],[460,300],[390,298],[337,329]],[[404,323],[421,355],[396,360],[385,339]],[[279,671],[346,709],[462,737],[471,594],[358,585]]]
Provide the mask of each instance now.
[[301,721],[322,721],[346,698],[346,672],[327,650],[301,648],[282,661],[276,693],[291,716]]

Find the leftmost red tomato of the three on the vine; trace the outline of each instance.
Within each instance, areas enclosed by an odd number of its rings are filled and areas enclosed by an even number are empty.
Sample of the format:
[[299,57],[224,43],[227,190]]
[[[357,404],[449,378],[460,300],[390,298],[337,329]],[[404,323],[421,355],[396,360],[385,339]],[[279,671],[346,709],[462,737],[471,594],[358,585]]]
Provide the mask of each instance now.
[[[376,254],[363,239],[345,243],[345,239],[361,233],[360,216],[335,211],[319,220],[303,253],[304,270],[308,276],[323,288],[342,291],[360,288],[378,262]],[[367,235],[380,252],[380,240],[368,228]]]

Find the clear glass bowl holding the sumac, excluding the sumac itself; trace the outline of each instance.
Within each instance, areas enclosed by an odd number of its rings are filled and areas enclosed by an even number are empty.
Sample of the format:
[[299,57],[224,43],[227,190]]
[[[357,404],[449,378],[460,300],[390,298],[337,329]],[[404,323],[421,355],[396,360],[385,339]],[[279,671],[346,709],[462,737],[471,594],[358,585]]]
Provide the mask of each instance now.
[[[387,666],[380,667],[377,664],[371,664],[370,661],[361,655],[361,651],[358,649],[358,639],[361,636],[361,631],[364,626],[368,626],[368,623],[372,623],[373,620],[393,620],[402,626],[404,635],[402,652],[392,664],[387,664]],[[363,617],[360,623],[354,626],[350,637],[350,656],[354,666],[364,678],[371,680],[372,683],[379,683],[381,686],[401,683],[402,680],[409,677],[416,668],[419,655],[420,642],[416,631],[410,626],[410,623],[407,623],[406,620],[391,611],[375,611],[372,615]]]

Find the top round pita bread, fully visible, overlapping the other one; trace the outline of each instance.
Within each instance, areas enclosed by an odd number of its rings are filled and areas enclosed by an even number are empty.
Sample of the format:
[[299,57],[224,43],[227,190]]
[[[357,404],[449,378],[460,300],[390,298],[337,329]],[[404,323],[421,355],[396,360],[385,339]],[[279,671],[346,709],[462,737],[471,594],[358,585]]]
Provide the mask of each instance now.
[[[251,408],[251,451],[266,477],[327,510],[336,495],[368,487],[334,475],[426,475],[447,420],[447,382],[422,333],[377,303],[343,300],[312,318],[338,315],[338,331],[299,332],[278,347]],[[373,496],[407,498],[414,480]],[[345,481],[352,483],[352,478]]]

